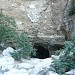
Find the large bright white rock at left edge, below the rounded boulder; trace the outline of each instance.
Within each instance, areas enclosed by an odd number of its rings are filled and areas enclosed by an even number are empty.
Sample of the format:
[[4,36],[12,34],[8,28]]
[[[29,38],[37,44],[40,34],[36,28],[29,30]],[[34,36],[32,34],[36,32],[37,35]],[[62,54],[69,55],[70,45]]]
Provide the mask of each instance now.
[[0,58],[0,67],[2,71],[10,70],[14,67],[14,59],[8,56]]

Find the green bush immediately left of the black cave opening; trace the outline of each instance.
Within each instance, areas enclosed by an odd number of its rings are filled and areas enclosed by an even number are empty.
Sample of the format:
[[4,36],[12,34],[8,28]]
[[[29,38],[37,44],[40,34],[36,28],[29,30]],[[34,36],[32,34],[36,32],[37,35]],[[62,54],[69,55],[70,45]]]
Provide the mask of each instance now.
[[[31,57],[31,55],[36,55],[36,51],[33,49],[33,45],[25,32],[22,32],[19,36],[16,37],[15,43],[16,48],[19,49],[20,58],[28,58]],[[14,53],[14,55],[15,54],[18,56],[18,53]]]

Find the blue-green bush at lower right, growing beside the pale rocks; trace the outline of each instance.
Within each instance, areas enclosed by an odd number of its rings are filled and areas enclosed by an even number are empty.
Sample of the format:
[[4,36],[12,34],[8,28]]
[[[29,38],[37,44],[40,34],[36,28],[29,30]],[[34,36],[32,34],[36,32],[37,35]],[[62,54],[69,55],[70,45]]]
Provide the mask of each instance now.
[[72,42],[65,41],[65,47],[60,52],[59,59],[54,59],[50,68],[59,75],[75,68],[75,49]]

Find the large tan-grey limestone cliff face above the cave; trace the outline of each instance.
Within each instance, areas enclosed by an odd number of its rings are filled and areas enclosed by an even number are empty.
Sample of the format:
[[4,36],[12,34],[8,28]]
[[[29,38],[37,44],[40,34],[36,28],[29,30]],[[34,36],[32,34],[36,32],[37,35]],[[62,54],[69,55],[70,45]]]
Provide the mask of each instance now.
[[0,0],[0,9],[15,18],[18,30],[38,37],[60,36],[60,43],[64,41],[59,29],[66,3],[66,0]]

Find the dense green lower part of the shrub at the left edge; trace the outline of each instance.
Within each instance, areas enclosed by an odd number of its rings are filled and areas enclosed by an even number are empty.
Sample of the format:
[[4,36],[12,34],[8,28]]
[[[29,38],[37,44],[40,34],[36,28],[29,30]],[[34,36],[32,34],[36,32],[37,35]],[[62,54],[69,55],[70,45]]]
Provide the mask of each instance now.
[[0,43],[4,43],[7,40],[13,40],[16,35],[15,29],[0,24]]

